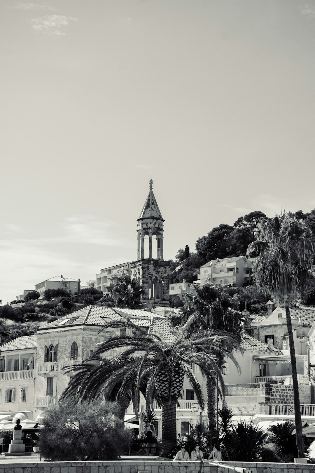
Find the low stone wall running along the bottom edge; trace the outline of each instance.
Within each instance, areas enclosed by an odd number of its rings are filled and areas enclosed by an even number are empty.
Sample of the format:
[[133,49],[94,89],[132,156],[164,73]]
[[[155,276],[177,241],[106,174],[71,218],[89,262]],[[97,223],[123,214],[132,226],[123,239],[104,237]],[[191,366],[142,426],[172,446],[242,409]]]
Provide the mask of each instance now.
[[[312,473],[315,464],[242,463],[228,462],[230,466],[247,468],[253,473]],[[199,462],[114,461],[114,462],[41,462],[0,463],[0,473],[198,473]],[[219,465],[205,464],[201,473],[227,473],[232,470]]]

